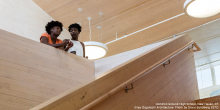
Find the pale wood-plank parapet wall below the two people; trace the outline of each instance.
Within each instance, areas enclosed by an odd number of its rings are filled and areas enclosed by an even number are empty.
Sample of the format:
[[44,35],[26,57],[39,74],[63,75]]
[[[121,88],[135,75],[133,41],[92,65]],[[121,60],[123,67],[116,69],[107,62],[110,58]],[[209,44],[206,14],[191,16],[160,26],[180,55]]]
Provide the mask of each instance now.
[[94,62],[0,30],[0,109],[27,110],[90,78]]

